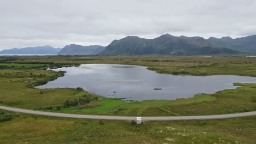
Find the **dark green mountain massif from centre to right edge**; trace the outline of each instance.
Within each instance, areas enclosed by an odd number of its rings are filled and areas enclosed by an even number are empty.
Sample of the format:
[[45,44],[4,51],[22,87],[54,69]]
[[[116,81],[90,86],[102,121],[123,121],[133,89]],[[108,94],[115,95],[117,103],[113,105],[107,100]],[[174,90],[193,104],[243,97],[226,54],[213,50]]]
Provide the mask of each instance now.
[[170,34],[154,39],[128,36],[113,40],[101,55],[216,55],[222,53],[256,52],[256,35],[232,39],[175,37]]

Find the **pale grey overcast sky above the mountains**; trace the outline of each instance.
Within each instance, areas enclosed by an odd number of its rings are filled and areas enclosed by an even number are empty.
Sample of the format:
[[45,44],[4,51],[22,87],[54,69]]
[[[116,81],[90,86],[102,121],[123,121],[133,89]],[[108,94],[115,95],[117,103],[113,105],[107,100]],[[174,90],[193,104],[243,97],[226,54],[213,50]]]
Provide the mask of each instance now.
[[256,34],[256,1],[1,0],[0,50],[67,44],[107,46],[127,35]]

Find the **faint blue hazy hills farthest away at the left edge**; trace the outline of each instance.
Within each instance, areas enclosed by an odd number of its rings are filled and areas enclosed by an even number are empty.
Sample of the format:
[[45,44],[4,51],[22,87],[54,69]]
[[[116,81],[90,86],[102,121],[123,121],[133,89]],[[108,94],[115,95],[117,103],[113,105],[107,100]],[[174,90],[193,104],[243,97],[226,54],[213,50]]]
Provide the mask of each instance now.
[[36,47],[25,47],[25,48],[13,48],[9,50],[0,51],[0,54],[38,54],[38,55],[55,55],[61,51],[61,48],[54,48],[51,46],[36,46]]

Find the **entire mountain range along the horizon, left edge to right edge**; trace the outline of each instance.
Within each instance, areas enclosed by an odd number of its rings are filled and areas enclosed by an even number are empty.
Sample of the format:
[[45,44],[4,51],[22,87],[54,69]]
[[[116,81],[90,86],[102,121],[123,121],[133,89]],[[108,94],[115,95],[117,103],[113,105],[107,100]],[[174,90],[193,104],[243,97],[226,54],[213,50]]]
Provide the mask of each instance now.
[[256,53],[256,35],[232,39],[175,37],[163,34],[154,39],[128,36],[113,40],[108,46],[66,45],[61,48],[37,46],[0,51],[0,54],[49,54],[49,55],[217,55],[233,53]]

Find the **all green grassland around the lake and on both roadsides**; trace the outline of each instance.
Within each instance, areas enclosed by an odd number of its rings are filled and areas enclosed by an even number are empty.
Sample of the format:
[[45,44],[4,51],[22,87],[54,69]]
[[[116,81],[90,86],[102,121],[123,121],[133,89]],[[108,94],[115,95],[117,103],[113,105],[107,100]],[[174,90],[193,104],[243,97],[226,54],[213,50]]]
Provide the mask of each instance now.
[[[256,76],[256,58],[169,56],[4,56],[0,57],[0,105],[97,115],[177,116],[255,111],[256,84],[189,99],[124,103],[82,88],[36,89],[63,76],[45,70],[86,63],[144,65],[158,73]],[[45,66],[46,65],[46,66]],[[130,66],[129,66],[130,67]],[[256,117],[202,121],[143,122],[72,119],[0,110],[0,143],[255,143]],[[157,134],[158,130],[163,130]],[[184,131],[185,130],[185,131]]]

